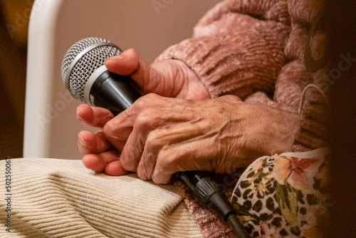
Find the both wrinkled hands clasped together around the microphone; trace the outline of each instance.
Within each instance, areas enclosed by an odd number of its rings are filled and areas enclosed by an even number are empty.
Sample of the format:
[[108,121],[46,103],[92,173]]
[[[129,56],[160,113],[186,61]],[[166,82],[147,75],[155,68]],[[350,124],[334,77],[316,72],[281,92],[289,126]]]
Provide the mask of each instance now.
[[210,99],[199,78],[181,61],[149,66],[134,51],[105,62],[130,75],[147,95],[115,118],[79,105],[78,120],[103,128],[78,134],[83,163],[108,175],[137,172],[142,180],[169,183],[177,171],[229,173],[261,155],[290,150],[295,113],[244,103],[234,95]]

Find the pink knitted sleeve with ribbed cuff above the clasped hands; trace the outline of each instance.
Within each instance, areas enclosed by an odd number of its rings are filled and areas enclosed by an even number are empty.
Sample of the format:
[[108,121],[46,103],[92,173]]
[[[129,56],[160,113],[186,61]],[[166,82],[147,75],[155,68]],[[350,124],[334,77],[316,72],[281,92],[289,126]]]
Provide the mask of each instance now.
[[223,1],[194,28],[194,36],[169,47],[156,61],[177,59],[192,68],[211,98],[273,96],[278,71],[286,63],[290,24],[286,1]]

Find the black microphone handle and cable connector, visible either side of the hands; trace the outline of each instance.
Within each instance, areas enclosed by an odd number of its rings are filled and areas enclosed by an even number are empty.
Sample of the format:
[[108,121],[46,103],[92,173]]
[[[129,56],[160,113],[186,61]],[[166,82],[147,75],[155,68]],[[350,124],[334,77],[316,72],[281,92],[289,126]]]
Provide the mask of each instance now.
[[[110,71],[101,73],[90,88],[90,103],[107,108],[113,115],[129,108],[141,96],[140,87],[130,76],[119,76]],[[236,211],[227,199],[224,190],[211,177],[210,172],[197,170],[177,172],[176,177],[192,190],[200,202],[218,214],[225,222],[229,222],[239,238],[249,237],[236,218]]]

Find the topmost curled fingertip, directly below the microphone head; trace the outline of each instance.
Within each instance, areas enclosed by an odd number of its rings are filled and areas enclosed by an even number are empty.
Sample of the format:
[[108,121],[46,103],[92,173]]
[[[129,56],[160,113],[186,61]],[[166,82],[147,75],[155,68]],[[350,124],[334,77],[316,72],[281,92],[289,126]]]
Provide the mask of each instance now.
[[80,104],[77,107],[77,119],[83,125],[103,128],[105,123],[112,118],[114,118],[114,115],[105,108],[90,107],[90,105],[86,104]]

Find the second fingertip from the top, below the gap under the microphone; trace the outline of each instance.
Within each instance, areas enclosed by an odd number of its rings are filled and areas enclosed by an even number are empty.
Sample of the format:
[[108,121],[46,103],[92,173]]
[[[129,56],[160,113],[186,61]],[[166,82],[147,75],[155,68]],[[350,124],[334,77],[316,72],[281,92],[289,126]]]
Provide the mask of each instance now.
[[78,133],[78,148],[82,155],[98,154],[112,148],[112,144],[105,139],[103,133],[96,135],[90,131],[82,130]]

